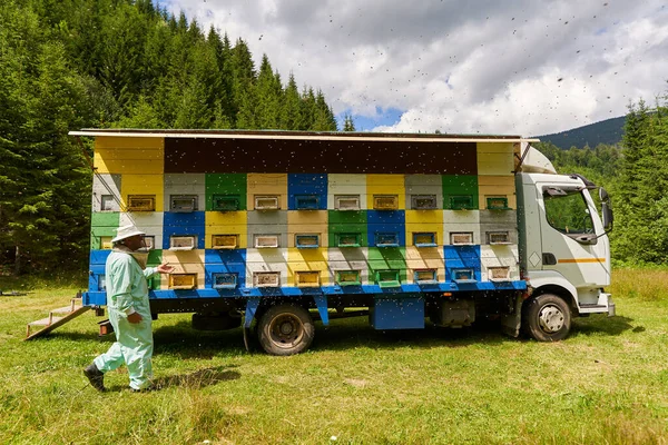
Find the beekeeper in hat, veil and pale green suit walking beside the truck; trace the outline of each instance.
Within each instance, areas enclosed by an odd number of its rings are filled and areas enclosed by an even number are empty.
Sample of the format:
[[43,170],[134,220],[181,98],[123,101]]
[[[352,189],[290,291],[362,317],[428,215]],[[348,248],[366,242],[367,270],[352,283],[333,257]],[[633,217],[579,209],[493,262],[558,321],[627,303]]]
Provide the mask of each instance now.
[[116,333],[116,343],[107,353],[95,358],[84,369],[88,380],[98,390],[105,390],[105,373],[124,363],[130,375],[130,389],[149,389],[154,349],[148,278],[155,274],[169,274],[167,265],[146,267],[144,233],[135,226],[117,229],[112,250],[107,258],[105,279],[109,322]]

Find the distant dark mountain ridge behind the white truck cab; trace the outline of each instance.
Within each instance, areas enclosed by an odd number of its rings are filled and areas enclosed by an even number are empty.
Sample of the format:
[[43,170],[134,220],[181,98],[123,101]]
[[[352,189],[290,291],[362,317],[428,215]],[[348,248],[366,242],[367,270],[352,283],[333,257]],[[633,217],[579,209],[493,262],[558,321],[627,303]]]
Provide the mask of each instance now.
[[571,147],[591,148],[599,144],[616,145],[621,141],[626,116],[601,120],[600,122],[573,128],[552,135],[537,136],[541,142],[552,142],[559,148],[568,150]]

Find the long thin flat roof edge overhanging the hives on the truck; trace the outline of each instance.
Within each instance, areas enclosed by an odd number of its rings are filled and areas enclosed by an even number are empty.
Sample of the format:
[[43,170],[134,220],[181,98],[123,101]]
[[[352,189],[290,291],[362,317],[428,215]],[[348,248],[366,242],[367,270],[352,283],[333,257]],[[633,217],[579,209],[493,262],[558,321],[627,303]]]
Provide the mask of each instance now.
[[537,142],[539,139],[517,135],[443,135],[423,132],[363,131],[286,131],[286,130],[161,130],[84,128],[70,136],[149,137],[149,138],[222,138],[222,139],[311,139],[311,140],[392,140],[411,142]]

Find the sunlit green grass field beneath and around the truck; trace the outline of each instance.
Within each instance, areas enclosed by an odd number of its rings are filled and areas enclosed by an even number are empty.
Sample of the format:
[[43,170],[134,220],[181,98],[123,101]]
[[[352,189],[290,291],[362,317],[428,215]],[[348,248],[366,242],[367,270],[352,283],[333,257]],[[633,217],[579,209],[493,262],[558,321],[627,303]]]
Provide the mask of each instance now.
[[557,344],[491,324],[381,333],[361,318],[318,323],[310,352],[272,357],[246,353],[239,329],[161,315],[163,389],[146,394],[126,389],[125,368],[108,393],[87,385],[81,369],[111,343],[91,313],[23,343],[28,322],[77,290],[32,284],[0,297],[0,443],[665,444],[668,270],[613,281],[618,316],[578,318]]

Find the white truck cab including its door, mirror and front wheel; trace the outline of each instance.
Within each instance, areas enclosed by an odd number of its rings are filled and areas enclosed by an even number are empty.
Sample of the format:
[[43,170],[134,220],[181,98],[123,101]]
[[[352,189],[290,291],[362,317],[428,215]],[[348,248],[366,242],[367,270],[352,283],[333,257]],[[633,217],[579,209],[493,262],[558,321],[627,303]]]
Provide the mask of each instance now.
[[[515,177],[520,264],[533,296],[522,324],[538,339],[557,340],[568,334],[571,313],[615,315],[605,291],[612,211],[605,189],[579,175],[557,175],[544,156],[528,150]],[[601,216],[591,196],[596,189]]]

